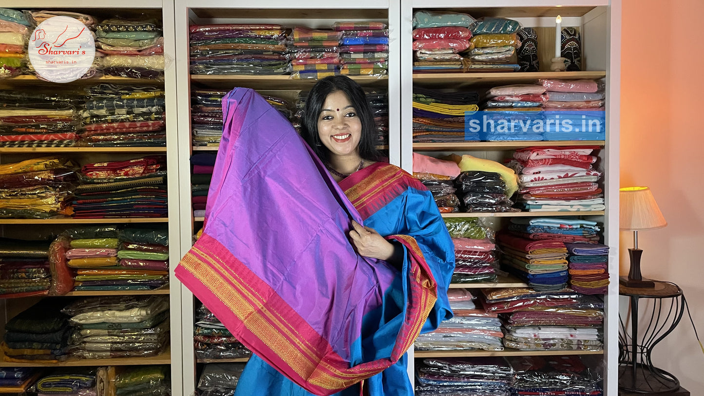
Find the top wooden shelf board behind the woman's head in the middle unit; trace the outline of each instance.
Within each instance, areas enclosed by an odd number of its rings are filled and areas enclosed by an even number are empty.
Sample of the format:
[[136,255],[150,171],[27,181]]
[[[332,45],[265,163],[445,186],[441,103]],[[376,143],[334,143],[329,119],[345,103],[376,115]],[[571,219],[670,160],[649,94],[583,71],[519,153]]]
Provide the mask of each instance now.
[[[388,78],[349,76],[363,87],[386,87]],[[246,76],[246,75],[191,75],[191,82],[230,89],[232,87],[247,87],[255,89],[310,89],[318,79],[292,79],[287,75]]]

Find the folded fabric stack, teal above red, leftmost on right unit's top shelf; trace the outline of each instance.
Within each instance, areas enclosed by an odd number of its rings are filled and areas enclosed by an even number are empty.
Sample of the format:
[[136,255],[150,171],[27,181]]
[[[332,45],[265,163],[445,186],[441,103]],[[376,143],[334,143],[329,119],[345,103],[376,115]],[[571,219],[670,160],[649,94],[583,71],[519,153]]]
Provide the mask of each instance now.
[[463,13],[417,11],[413,15],[413,72],[463,72],[459,55],[474,46],[470,27],[475,20]]

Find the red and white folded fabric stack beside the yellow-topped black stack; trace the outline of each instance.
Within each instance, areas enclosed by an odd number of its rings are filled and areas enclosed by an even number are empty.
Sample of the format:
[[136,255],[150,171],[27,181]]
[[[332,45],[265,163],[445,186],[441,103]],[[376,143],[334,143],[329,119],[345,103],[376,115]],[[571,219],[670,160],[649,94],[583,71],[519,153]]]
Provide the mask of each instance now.
[[516,151],[508,166],[520,174],[520,206],[529,212],[604,210],[598,185],[601,172],[593,169],[598,159],[591,155],[595,149],[529,147]]

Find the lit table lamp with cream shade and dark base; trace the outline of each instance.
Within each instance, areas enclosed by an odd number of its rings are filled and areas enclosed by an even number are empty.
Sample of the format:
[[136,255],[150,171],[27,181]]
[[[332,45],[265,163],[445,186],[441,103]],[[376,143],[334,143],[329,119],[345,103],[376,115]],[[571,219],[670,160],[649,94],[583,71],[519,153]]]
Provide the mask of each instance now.
[[619,228],[621,231],[633,231],[633,248],[628,250],[631,268],[628,276],[619,277],[619,283],[629,288],[653,288],[655,283],[643,279],[641,275],[643,250],[638,248],[638,231],[659,229],[667,226],[667,222],[648,187],[623,187],[619,197]]

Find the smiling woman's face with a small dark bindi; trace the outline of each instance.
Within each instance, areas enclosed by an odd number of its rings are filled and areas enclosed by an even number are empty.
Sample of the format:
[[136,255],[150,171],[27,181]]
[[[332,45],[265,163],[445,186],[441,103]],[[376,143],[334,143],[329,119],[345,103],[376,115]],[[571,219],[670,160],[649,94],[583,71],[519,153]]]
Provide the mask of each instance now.
[[318,116],[318,136],[333,155],[358,155],[362,121],[344,92],[334,91],[325,98]]

